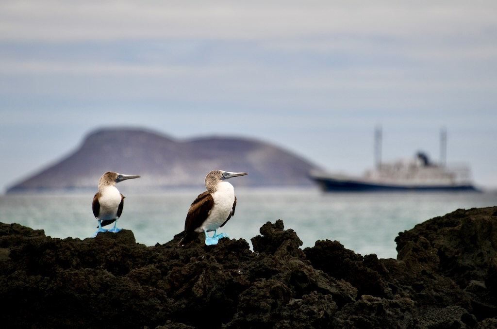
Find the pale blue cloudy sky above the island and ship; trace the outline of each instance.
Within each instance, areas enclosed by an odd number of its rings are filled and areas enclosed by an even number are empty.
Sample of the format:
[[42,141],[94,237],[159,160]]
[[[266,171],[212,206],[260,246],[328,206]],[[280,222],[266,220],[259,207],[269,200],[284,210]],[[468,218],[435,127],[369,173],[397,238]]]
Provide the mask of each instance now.
[[[92,131],[247,137],[333,172],[425,151],[497,189],[497,2],[1,0],[0,193]],[[224,168],[237,171],[236,168]]]

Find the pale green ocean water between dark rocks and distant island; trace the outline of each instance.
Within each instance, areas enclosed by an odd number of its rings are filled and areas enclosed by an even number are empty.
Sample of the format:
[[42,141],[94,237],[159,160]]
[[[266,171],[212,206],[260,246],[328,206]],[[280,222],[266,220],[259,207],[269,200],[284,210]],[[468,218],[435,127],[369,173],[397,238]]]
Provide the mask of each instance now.
[[[202,191],[124,193],[118,227],[132,230],[147,246],[164,244],[183,230],[191,202]],[[304,247],[339,241],[362,255],[396,258],[399,232],[457,209],[497,205],[496,192],[322,193],[318,189],[241,189],[235,186],[235,216],[219,231],[232,239],[259,235],[266,222],[281,219]],[[0,221],[45,231],[52,238],[85,239],[96,231],[94,193],[0,195]],[[110,228],[110,227],[107,227]]]

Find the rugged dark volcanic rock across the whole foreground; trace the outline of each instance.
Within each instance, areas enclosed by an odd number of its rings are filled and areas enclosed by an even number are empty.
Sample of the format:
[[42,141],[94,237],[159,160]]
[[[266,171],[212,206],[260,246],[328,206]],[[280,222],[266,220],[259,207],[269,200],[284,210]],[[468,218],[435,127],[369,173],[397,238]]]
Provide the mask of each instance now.
[[[283,222],[216,246],[131,231],[52,239],[0,223],[4,328],[496,328],[497,207],[397,238],[398,259],[305,248]],[[487,239],[487,242],[485,240]]]

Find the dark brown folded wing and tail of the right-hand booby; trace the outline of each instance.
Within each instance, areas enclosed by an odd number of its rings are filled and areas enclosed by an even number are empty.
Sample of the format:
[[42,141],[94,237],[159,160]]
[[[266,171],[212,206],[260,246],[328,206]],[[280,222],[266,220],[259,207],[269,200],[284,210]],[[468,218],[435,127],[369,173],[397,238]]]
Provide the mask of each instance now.
[[214,199],[209,192],[205,191],[197,196],[195,201],[190,205],[190,210],[188,210],[188,214],[186,215],[185,230],[182,232],[183,237],[179,241],[178,247],[187,244],[198,237],[199,234],[195,232],[195,229],[201,226],[207,219],[213,205]]

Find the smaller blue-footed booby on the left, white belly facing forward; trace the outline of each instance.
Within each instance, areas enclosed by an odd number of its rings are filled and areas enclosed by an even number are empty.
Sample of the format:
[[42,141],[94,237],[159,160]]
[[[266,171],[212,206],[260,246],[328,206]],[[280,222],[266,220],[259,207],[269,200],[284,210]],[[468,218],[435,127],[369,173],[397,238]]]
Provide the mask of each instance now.
[[[117,233],[121,229],[117,228],[117,220],[121,217],[124,206],[124,195],[116,188],[116,184],[120,181],[138,178],[136,175],[124,175],[117,172],[108,171],[104,173],[98,180],[98,192],[93,197],[93,215],[98,221],[98,230],[93,237],[99,232]],[[114,223],[115,222],[115,223]],[[110,230],[105,230],[102,226],[114,223],[114,227]]]

